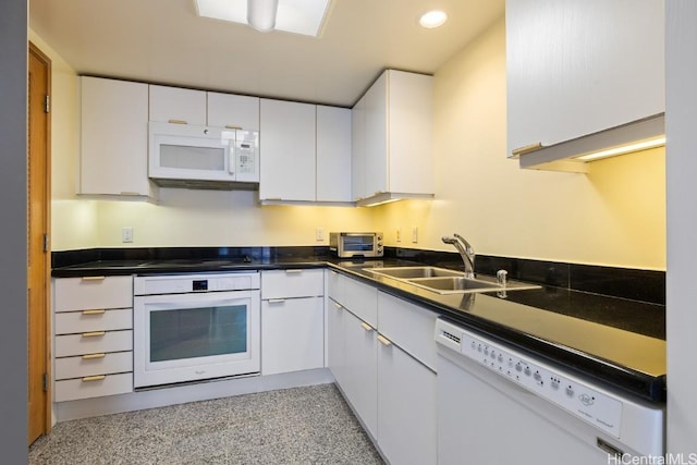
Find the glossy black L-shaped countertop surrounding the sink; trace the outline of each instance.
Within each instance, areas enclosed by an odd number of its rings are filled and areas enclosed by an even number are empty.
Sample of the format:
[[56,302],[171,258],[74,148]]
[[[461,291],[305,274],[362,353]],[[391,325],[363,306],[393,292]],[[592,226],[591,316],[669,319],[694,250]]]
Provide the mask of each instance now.
[[[159,249],[157,249],[159,250]],[[551,363],[590,376],[644,399],[665,399],[665,307],[626,298],[543,285],[536,290],[437,294],[366,270],[372,266],[408,266],[386,258],[363,262],[338,260],[319,247],[274,247],[221,254],[211,249],[149,252],[137,257],[109,253],[85,255],[85,261],[54,260],[57,278],[180,272],[244,271],[330,266],[380,290],[426,306],[460,325],[498,338]],[[159,254],[159,256],[158,256]],[[78,258],[80,259],[80,258]],[[61,266],[62,265],[62,266]]]

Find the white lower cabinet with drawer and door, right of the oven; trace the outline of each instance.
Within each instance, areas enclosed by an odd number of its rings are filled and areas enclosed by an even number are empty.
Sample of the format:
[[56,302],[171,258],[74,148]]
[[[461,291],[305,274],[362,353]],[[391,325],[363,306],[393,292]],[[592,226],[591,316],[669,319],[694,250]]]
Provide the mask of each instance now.
[[321,269],[261,271],[261,375],[325,366]]

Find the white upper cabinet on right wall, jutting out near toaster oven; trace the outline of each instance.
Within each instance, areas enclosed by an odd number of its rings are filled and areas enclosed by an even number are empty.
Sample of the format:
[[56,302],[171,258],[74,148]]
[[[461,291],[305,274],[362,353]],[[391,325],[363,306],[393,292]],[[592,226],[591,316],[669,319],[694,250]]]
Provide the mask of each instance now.
[[387,70],[353,110],[354,199],[432,197],[432,77]]

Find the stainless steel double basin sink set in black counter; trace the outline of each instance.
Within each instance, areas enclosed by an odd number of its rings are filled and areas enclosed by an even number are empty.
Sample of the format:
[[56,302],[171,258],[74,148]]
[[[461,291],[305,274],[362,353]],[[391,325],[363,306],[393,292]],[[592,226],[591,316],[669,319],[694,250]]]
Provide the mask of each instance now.
[[519,281],[499,283],[496,279],[467,278],[463,272],[437,267],[364,268],[375,274],[392,278],[438,294],[501,292],[539,289]]

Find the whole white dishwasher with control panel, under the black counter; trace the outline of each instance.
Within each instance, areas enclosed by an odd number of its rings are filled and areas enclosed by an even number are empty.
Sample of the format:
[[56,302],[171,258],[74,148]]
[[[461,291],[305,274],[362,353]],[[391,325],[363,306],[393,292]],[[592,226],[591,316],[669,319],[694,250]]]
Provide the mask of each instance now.
[[439,464],[608,465],[663,456],[663,404],[445,320],[436,323],[436,341]]

